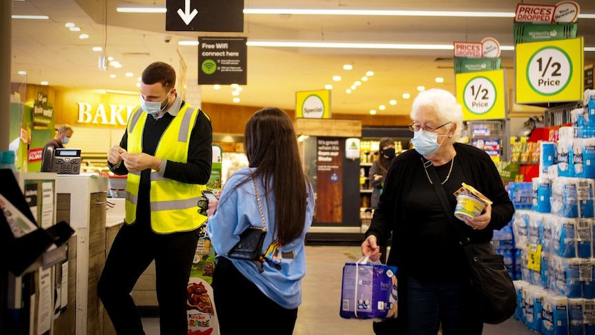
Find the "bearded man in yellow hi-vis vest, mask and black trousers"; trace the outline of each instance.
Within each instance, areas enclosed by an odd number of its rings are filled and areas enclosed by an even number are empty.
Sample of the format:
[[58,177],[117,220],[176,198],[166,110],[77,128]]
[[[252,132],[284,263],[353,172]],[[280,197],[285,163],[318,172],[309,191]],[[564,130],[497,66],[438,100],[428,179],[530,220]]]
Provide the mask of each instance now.
[[197,202],[211,177],[213,128],[174,86],[170,65],[145,68],[141,104],[108,155],[113,173],[128,173],[126,217],[97,287],[118,334],[144,334],[130,292],[153,260],[161,334],[188,333],[186,289],[206,220]]

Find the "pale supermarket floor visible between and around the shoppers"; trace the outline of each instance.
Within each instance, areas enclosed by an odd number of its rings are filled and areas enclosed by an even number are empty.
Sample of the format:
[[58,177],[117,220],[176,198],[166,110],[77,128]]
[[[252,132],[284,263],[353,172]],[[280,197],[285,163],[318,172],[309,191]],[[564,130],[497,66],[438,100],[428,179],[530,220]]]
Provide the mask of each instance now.
[[[308,271],[303,280],[302,305],[294,335],[373,335],[373,320],[344,319],[339,316],[341,277],[345,262],[358,260],[358,247],[308,246]],[[146,335],[159,334],[157,318],[143,319]],[[264,334],[264,333],[262,333]],[[518,320],[485,325],[483,334],[536,334]]]

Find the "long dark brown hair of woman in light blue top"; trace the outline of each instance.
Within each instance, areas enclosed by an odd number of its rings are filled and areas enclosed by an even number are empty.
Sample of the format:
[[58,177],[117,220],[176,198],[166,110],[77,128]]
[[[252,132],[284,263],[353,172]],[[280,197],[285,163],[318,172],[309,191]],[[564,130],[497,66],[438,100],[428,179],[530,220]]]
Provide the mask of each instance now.
[[304,230],[308,194],[289,115],[276,107],[254,113],[246,122],[244,149],[249,165],[257,168],[255,176],[262,179],[263,193],[275,193],[275,232],[286,245]]

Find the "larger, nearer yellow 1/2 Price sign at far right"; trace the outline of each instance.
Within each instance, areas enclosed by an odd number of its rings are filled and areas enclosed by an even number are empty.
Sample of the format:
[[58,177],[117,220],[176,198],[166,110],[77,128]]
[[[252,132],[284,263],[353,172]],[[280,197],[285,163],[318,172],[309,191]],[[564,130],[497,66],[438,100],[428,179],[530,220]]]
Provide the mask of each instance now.
[[583,38],[516,45],[516,102],[573,102],[584,90]]

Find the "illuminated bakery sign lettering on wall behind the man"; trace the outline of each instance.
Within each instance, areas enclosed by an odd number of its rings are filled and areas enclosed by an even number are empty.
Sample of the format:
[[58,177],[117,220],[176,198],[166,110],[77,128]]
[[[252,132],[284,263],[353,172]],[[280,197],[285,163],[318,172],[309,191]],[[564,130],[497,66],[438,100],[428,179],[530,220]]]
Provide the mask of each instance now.
[[128,117],[133,113],[134,105],[95,104],[77,102],[79,124],[104,124],[111,126],[126,126]]

